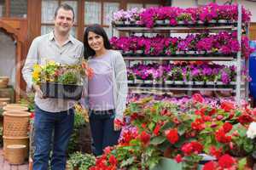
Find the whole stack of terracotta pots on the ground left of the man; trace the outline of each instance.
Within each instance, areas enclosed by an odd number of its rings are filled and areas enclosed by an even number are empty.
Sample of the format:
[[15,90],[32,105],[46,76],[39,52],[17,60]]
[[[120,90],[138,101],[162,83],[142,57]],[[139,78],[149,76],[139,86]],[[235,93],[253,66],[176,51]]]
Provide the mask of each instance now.
[[22,160],[22,156],[28,158],[30,112],[26,106],[19,104],[5,105],[3,110],[3,156],[10,163],[20,164],[14,157],[20,153],[23,155],[16,156],[17,159]]

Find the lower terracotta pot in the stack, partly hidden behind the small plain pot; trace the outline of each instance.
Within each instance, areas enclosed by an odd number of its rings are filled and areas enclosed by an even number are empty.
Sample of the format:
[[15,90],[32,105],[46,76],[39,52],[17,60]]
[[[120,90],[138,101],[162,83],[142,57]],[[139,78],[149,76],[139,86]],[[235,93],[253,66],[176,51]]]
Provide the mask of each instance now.
[[6,154],[6,150],[7,150],[7,146],[10,144],[24,144],[26,145],[26,148],[24,150],[24,156],[25,159],[28,158],[28,139],[29,137],[5,137],[3,136],[3,156],[5,159],[7,159],[7,154]]

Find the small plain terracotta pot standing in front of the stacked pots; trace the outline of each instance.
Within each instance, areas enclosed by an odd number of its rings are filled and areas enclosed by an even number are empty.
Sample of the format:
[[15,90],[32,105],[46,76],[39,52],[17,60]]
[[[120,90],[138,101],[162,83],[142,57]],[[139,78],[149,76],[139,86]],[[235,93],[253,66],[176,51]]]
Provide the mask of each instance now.
[[9,164],[20,165],[25,161],[26,145],[24,144],[9,144],[6,147],[6,157]]

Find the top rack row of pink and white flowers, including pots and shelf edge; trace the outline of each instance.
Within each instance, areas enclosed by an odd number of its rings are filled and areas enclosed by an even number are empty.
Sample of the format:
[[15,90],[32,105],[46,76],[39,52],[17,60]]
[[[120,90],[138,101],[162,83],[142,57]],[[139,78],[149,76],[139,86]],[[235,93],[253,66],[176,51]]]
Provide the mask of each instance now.
[[[112,24],[118,30],[158,30],[168,27],[169,30],[202,30],[203,27],[212,29],[233,29],[237,26],[237,4],[218,5],[209,3],[202,7],[178,8],[178,7],[153,7],[138,10],[119,10],[113,13]],[[246,25],[251,13],[241,8],[241,21]],[[125,28],[127,27],[127,28]],[[187,27],[187,28],[185,28]]]

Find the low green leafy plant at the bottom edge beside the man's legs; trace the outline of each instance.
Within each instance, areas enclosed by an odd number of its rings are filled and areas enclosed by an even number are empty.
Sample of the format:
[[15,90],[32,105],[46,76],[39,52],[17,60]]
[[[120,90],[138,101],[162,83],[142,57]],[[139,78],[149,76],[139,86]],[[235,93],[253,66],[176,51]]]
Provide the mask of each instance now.
[[90,154],[82,154],[81,152],[73,153],[68,161],[67,165],[70,170],[87,170],[96,164],[96,157]]

